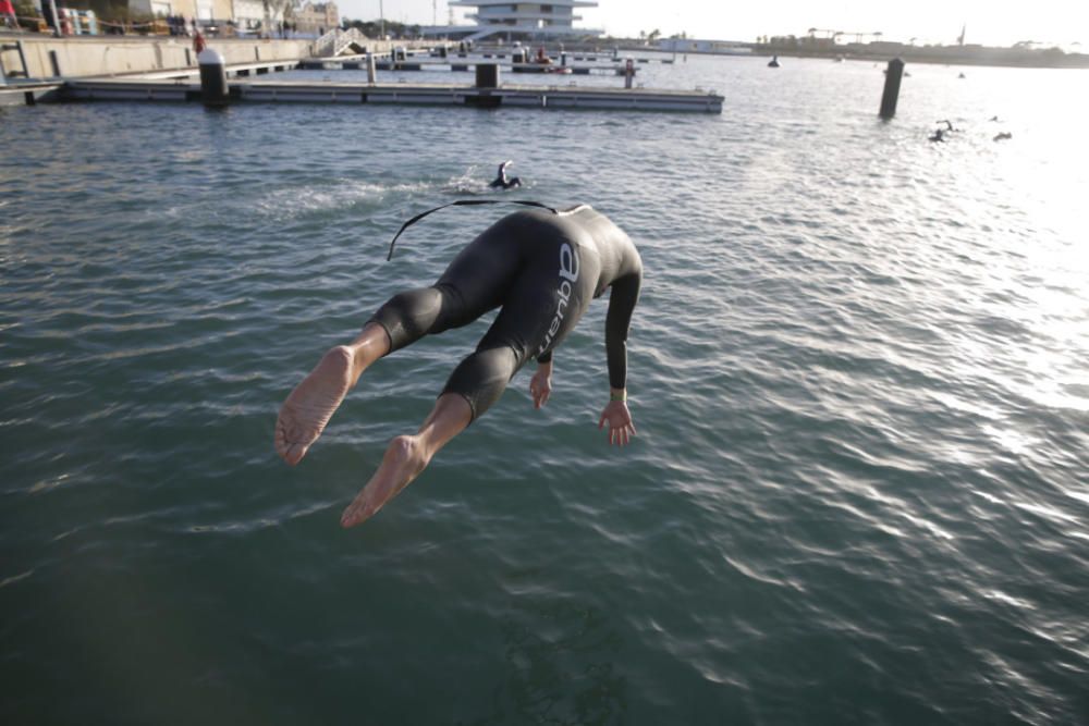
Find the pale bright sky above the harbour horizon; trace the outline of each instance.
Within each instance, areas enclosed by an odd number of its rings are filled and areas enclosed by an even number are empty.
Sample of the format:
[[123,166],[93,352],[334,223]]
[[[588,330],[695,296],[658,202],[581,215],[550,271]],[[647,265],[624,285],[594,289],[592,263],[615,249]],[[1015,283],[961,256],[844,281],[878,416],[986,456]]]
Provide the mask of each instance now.
[[[388,20],[430,25],[449,17],[445,0],[337,0],[342,16],[377,20],[379,2]],[[856,33],[880,30],[885,40],[953,44],[967,25],[966,42],[1010,46],[1019,40],[1059,45],[1089,53],[1089,0],[599,0],[579,11],[582,27],[636,37],[659,29],[664,36],[751,41],[761,35],[806,35],[810,27]],[[463,22],[464,9],[455,9]],[[868,40],[870,38],[864,38]]]

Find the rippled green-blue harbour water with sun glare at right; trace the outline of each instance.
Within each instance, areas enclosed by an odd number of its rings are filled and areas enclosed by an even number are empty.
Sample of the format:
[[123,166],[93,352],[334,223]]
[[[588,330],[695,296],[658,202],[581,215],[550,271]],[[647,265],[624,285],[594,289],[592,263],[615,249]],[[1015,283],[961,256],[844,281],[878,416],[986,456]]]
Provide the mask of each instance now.
[[[645,69],[722,115],[0,110],[4,723],[1089,721],[1089,76],[909,70],[892,123],[794,59]],[[487,320],[295,469],[276,411],[503,159],[643,253],[639,435],[598,302],[543,411],[521,373],[342,531]]]

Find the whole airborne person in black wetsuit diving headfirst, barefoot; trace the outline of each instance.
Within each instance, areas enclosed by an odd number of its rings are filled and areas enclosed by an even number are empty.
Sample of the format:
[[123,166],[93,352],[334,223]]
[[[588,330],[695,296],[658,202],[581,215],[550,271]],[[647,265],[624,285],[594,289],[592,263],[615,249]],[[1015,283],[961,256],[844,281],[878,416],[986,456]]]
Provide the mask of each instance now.
[[433,285],[394,295],[355,340],[326,353],[280,408],[276,450],[287,464],[298,464],[375,361],[500,308],[476,352],[451,373],[420,428],[390,442],[378,470],[344,509],[341,526],[358,525],[499,401],[530,358],[537,360],[537,371],[529,393],[534,408],[543,406],[552,392],[553,350],[590,300],[607,288],[609,402],[598,429],[608,424],[609,442],[623,446],[635,435],[626,403],[627,333],[641,283],[643,261],[635,245],[589,206],[504,217],[462,249]]

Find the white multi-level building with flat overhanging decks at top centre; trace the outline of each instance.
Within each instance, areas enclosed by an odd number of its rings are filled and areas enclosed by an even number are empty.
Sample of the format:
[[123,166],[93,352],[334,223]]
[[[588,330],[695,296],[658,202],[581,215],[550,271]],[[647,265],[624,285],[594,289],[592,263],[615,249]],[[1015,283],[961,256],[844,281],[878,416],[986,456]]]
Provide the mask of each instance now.
[[476,25],[450,25],[424,28],[427,35],[445,35],[452,38],[481,40],[489,36],[509,39],[563,39],[572,36],[597,37],[601,30],[575,27],[575,8],[597,8],[596,0],[552,0],[542,2],[515,2],[510,0],[450,0],[451,8],[475,8],[466,17]]

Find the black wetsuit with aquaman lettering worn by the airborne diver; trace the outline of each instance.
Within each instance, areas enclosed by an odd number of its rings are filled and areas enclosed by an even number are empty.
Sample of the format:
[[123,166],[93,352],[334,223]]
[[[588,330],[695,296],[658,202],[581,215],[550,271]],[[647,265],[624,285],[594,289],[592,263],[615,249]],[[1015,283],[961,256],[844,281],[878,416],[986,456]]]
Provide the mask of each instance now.
[[604,214],[585,205],[560,214],[516,212],[465,247],[432,286],[395,295],[371,321],[386,329],[392,353],[502,307],[442,391],[463,395],[476,418],[529,358],[551,360],[590,299],[610,286],[609,383],[625,387],[627,331],[641,282],[639,253]]

